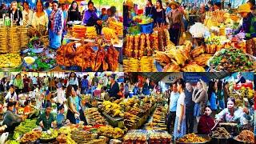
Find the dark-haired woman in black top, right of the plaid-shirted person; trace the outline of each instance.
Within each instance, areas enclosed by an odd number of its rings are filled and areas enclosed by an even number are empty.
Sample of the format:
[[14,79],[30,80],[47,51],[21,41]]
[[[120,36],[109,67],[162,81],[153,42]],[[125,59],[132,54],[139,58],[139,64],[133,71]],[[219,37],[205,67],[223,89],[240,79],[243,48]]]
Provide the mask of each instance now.
[[73,1],[68,11],[67,22],[70,21],[81,21],[81,14],[78,10],[78,2]]

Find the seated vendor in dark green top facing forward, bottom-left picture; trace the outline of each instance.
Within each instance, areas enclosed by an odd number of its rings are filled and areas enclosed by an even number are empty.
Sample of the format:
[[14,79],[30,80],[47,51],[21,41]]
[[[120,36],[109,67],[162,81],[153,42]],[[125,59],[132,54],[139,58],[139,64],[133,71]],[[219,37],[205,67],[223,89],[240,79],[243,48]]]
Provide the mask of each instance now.
[[51,114],[50,104],[46,105],[46,111],[40,115],[36,124],[42,127],[43,131],[49,130],[51,126],[56,126],[56,118],[54,114]]

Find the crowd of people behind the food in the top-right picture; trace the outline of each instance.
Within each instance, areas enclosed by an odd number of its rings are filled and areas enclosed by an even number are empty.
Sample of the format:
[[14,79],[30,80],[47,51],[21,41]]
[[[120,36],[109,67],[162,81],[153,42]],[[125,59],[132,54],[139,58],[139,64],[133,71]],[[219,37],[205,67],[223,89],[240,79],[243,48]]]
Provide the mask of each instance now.
[[[134,3],[127,0],[124,4],[124,26],[129,27],[132,18],[136,15]],[[164,7],[165,6],[165,7]],[[218,11],[226,9],[229,13],[233,13],[231,4],[223,6],[221,2],[209,1],[196,6],[193,3],[179,3],[172,0],[164,5],[162,0],[157,0],[155,4],[151,0],[146,1],[144,14],[154,19],[154,26],[166,25],[169,27],[170,41],[175,45],[179,44],[179,38],[183,32],[189,29],[194,22],[204,22],[207,11]],[[256,38],[256,4],[255,0],[250,0],[238,7],[238,14],[243,18],[241,25],[234,34],[238,34],[242,30],[246,33],[246,39]]]

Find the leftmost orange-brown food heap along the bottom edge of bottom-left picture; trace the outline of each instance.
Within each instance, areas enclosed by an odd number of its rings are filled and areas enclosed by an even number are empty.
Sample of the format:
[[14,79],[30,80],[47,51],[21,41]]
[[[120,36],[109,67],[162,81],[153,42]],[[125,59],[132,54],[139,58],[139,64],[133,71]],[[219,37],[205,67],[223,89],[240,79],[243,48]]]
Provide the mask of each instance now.
[[34,142],[38,140],[42,135],[41,131],[30,131],[22,136],[20,139],[20,142],[22,143],[29,143],[29,142]]

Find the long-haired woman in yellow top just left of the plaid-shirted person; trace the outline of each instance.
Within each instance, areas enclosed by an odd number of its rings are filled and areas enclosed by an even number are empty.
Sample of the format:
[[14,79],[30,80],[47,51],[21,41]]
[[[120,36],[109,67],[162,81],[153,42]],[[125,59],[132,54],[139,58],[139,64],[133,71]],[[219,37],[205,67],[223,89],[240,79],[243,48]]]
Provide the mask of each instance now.
[[36,12],[34,12],[32,17],[32,26],[34,28],[38,28],[38,26],[42,25],[47,28],[48,22],[49,22],[48,15],[43,10],[42,1],[38,1],[36,4]]

